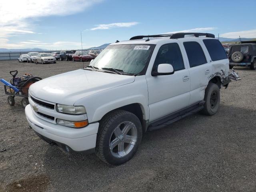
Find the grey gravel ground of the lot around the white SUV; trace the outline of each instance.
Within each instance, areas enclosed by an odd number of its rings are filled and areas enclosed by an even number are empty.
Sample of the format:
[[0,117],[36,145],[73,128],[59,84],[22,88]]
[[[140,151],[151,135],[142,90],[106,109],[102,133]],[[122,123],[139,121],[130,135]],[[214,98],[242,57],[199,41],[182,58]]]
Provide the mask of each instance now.
[[[10,70],[46,78],[78,68],[82,63],[2,61],[0,78],[10,80]],[[147,132],[121,166],[49,146],[28,128],[20,99],[9,106],[1,85],[0,191],[255,192],[256,71],[235,69],[242,80],[221,89],[216,115],[195,114]]]

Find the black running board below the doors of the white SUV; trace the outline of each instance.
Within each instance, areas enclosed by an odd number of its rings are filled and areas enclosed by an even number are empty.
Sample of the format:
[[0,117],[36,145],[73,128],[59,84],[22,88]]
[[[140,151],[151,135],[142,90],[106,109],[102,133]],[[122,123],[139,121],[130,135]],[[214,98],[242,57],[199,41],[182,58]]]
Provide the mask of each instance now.
[[187,108],[174,112],[158,120],[154,120],[149,124],[148,131],[163,128],[167,125],[172,124],[173,122],[183,119],[189,115],[195,114],[204,108],[204,103],[205,101],[202,101],[200,103],[194,104],[192,106],[189,106]]

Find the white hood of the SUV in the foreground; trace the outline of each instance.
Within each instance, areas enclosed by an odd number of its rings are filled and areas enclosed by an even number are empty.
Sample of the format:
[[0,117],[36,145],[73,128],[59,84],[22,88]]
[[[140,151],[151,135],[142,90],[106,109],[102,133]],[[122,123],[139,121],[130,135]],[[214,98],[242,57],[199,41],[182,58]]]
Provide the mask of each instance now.
[[29,92],[45,101],[73,105],[81,98],[134,80],[135,76],[79,69],[40,80],[29,87]]

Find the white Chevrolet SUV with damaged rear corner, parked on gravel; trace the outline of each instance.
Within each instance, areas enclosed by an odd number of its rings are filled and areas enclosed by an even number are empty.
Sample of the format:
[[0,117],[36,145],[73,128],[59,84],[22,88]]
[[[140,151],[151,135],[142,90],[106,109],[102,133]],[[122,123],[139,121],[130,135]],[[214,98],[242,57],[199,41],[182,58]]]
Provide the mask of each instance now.
[[26,118],[50,144],[122,164],[147,130],[215,114],[228,64],[213,34],[135,36],[110,44],[86,68],[32,84]]

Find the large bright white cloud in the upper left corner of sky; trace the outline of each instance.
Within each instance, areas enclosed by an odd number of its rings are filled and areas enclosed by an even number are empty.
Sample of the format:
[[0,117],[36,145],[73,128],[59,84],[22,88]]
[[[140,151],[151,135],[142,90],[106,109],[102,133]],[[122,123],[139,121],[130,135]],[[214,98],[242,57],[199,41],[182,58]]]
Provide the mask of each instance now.
[[[0,3],[0,38],[16,34],[35,34],[34,19],[65,16],[81,12],[102,0],[2,0]],[[27,29],[32,29],[28,31]],[[41,33],[38,33],[41,34]]]

